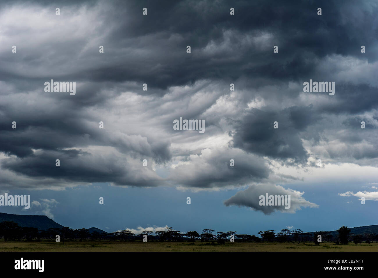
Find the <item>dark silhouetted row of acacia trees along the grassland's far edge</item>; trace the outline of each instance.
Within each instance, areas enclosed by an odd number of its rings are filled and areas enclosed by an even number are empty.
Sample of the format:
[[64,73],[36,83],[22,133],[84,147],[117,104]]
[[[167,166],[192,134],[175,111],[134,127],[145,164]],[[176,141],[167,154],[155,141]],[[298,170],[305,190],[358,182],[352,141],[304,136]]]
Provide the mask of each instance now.
[[333,236],[331,233],[318,231],[314,233],[305,233],[301,229],[289,230],[282,229],[278,233],[276,230],[259,231],[257,237],[255,235],[238,234],[236,231],[218,231],[203,229],[199,234],[197,231],[188,231],[187,233],[180,233],[180,231],[167,227],[165,231],[156,231],[152,235],[152,231],[143,231],[135,235],[130,230],[116,231],[114,233],[99,233],[93,231],[90,233],[88,229],[73,230],[70,227],[50,228],[48,230],[38,230],[31,227],[20,227],[17,223],[12,221],[3,221],[0,223],[0,236],[4,241],[40,241],[43,239],[56,239],[59,235],[60,241],[71,240],[110,240],[110,241],[140,241],[144,235],[148,236],[149,241],[189,241],[194,242],[201,240],[201,242],[217,241],[218,243],[225,243],[232,238],[235,242],[307,242],[314,241],[319,244],[319,235],[321,242],[335,242],[336,244],[348,244],[354,242],[355,244],[365,242],[378,242],[378,234],[365,233],[364,235],[354,235],[350,233],[350,228],[342,226],[338,229],[338,235]]

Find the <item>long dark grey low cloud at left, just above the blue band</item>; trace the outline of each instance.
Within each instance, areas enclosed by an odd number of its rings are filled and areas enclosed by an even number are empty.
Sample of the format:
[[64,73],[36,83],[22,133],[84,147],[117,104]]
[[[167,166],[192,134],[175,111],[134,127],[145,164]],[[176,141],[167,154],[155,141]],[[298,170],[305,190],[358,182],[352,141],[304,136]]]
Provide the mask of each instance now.
[[[56,166],[56,159],[60,166]],[[162,179],[138,160],[111,153],[92,155],[78,150],[36,151],[26,158],[8,158],[2,169],[29,177],[50,177],[70,182],[111,182],[116,185],[158,186]]]

